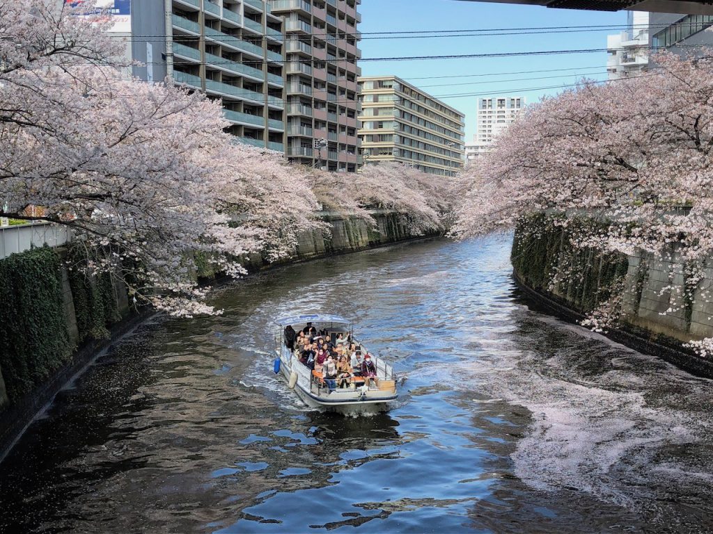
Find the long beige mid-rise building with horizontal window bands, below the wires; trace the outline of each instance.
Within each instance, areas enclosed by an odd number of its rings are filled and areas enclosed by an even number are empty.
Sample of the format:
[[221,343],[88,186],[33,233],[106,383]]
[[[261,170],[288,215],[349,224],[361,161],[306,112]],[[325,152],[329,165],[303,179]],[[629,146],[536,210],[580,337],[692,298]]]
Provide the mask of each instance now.
[[463,168],[465,115],[396,76],[359,78],[364,164],[392,161],[453,176]]

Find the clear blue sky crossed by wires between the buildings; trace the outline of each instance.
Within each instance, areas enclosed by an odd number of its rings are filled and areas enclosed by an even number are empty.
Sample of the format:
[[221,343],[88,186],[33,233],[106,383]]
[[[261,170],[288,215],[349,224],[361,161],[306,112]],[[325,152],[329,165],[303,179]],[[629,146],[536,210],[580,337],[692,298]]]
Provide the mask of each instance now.
[[[362,0],[359,12],[361,13],[359,31],[362,33],[360,48],[363,58],[606,48],[607,33],[617,33],[620,30],[605,28],[602,31],[580,31],[578,33],[518,33],[508,36],[417,39],[379,39],[374,38],[376,37],[374,35],[369,35],[371,32],[480,30],[545,26],[617,26],[626,22],[625,11],[606,13],[458,0]],[[521,90],[517,94],[525,95],[528,103],[532,103],[539,100],[542,95],[558,93],[559,89],[522,89],[546,86],[561,87],[574,83],[583,75],[597,80],[605,80],[606,63],[606,53],[597,52],[559,56],[513,56],[431,61],[362,61],[360,66],[364,76],[395,74],[436,97],[455,93],[495,94],[498,91]],[[574,68],[575,70],[488,75],[477,78],[424,78],[563,68]],[[548,78],[540,80],[516,79],[545,76]],[[515,95],[515,93],[508,94]],[[443,102],[466,114],[466,142],[473,140],[476,130],[477,99],[476,95],[442,98]]]

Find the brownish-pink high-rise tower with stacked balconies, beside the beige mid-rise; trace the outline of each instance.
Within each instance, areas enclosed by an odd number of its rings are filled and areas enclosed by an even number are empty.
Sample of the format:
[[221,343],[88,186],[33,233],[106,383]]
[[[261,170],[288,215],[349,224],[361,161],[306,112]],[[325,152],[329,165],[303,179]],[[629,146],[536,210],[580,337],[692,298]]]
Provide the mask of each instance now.
[[287,156],[355,172],[361,0],[271,0],[284,20]]

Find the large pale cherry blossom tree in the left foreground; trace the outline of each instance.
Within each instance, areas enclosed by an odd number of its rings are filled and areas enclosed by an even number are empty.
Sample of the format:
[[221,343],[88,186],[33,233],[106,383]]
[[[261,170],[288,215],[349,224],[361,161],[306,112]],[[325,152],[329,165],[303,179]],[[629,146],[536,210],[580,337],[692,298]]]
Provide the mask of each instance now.
[[68,226],[91,270],[122,273],[138,299],[210,313],[193,253],[238,275],[243,254],[275,259],[318,226],[316,200],[282,157],[237,145],[217,103],[123,77],[93,11],[0,1],[0,216]]

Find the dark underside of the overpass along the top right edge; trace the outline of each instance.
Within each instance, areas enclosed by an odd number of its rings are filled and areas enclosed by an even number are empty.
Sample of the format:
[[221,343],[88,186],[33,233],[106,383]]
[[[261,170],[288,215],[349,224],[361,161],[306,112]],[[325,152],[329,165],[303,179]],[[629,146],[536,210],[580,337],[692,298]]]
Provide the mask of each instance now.
[[589,11],[652,11],[654,13],[681,13],[691,15],[713,15],[713,1],[681,0],[459,0],[489,1],[498,4],[525,4],[561,9],[585,9]]

